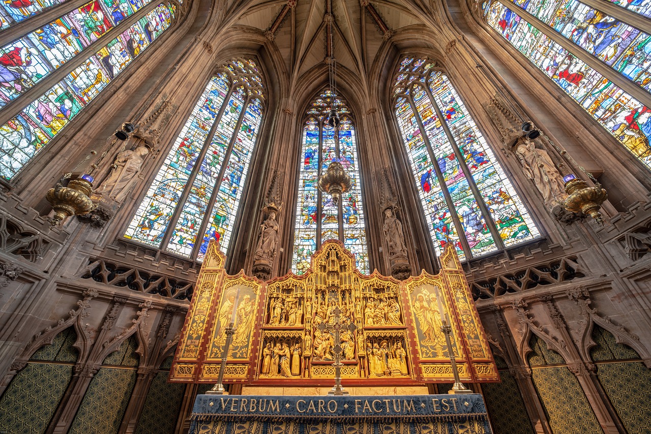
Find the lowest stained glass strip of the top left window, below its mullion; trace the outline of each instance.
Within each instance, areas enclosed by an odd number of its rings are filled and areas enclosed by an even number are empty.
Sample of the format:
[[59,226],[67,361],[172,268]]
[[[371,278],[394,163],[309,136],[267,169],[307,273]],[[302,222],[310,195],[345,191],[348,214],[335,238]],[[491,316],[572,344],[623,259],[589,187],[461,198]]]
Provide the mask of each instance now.
[[[160,34],[171,25],[174,9],[167,3],[161,3],[141,21],[150,23],[153,17],[158,20]],[[92,53],[81,65],[29,103],[6,124],[0,126],[0,176],[7,180],[14,178],[157,36],[148,36],[141,22],[134,23],[117,38],[107,42],[106,46]],[[0,73],[2,71],[3,66],[0,65]],[[5,90],[3,88],[0,92],[0,97],[7,96],[3,93]]]

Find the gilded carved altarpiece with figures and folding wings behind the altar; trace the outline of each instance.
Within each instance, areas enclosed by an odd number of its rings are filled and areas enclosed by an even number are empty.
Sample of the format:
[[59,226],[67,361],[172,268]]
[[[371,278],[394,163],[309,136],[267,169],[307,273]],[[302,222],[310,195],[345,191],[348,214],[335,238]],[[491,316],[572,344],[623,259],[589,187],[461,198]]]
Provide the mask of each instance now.
[[[225,380],[256,385],[331,385],[331,327],[341,310],[344,385],[452,382],[440,307],[452,325],[463,381],[499,381],[486,336],[451,245],[441,272],[404,282],[355,269],[339,241],[326,241],[302,276],[268,282],[227,275],[216,243],[208,247],[174,357],[170,381],[215,383],[236,294],[236,331]],[[444,314],[445,315],[445,314]],[[445,316],[443,317],[445,318]],[[357,326],[355,331],[346,328]],[[321,330],[323,329],[323,331]]]

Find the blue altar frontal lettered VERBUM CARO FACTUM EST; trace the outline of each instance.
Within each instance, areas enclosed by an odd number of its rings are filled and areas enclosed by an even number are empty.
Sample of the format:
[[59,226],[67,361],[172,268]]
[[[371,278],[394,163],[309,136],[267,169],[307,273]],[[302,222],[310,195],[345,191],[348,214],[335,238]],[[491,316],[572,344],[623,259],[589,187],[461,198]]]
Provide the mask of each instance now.
[[482,396],[199,395],[190,434],[492,433]]

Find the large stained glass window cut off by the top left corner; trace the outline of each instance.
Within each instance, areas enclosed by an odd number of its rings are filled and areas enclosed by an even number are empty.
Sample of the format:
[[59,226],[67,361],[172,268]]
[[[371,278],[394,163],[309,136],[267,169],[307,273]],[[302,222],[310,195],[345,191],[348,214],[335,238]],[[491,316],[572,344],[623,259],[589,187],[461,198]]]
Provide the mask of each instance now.
[[[0,176],[12,180],[171,26],[174,5],[150,1],[94,0],[78,8],[62,5],[59,18],[0,48]],[[40,0],[18,8],[23,3],[7,3],[0,14],[12,13],[2,16],[3,28],[59,3],[63,1]],[[90,45],[98,41],[105,44],[89,53]],[[83,60],[71,62],[76,57]],[[61,79],[36,100],[21,98],[50,75]]]

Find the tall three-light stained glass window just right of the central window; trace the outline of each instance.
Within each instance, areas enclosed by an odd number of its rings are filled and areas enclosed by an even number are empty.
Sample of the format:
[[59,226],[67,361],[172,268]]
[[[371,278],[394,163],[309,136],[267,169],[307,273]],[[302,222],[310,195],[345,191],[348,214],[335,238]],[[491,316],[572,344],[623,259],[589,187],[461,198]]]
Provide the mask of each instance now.
[[475,121],[434,62],[405,57],[393,101],[438,254],[446,241],[467,259],[538,237]]

